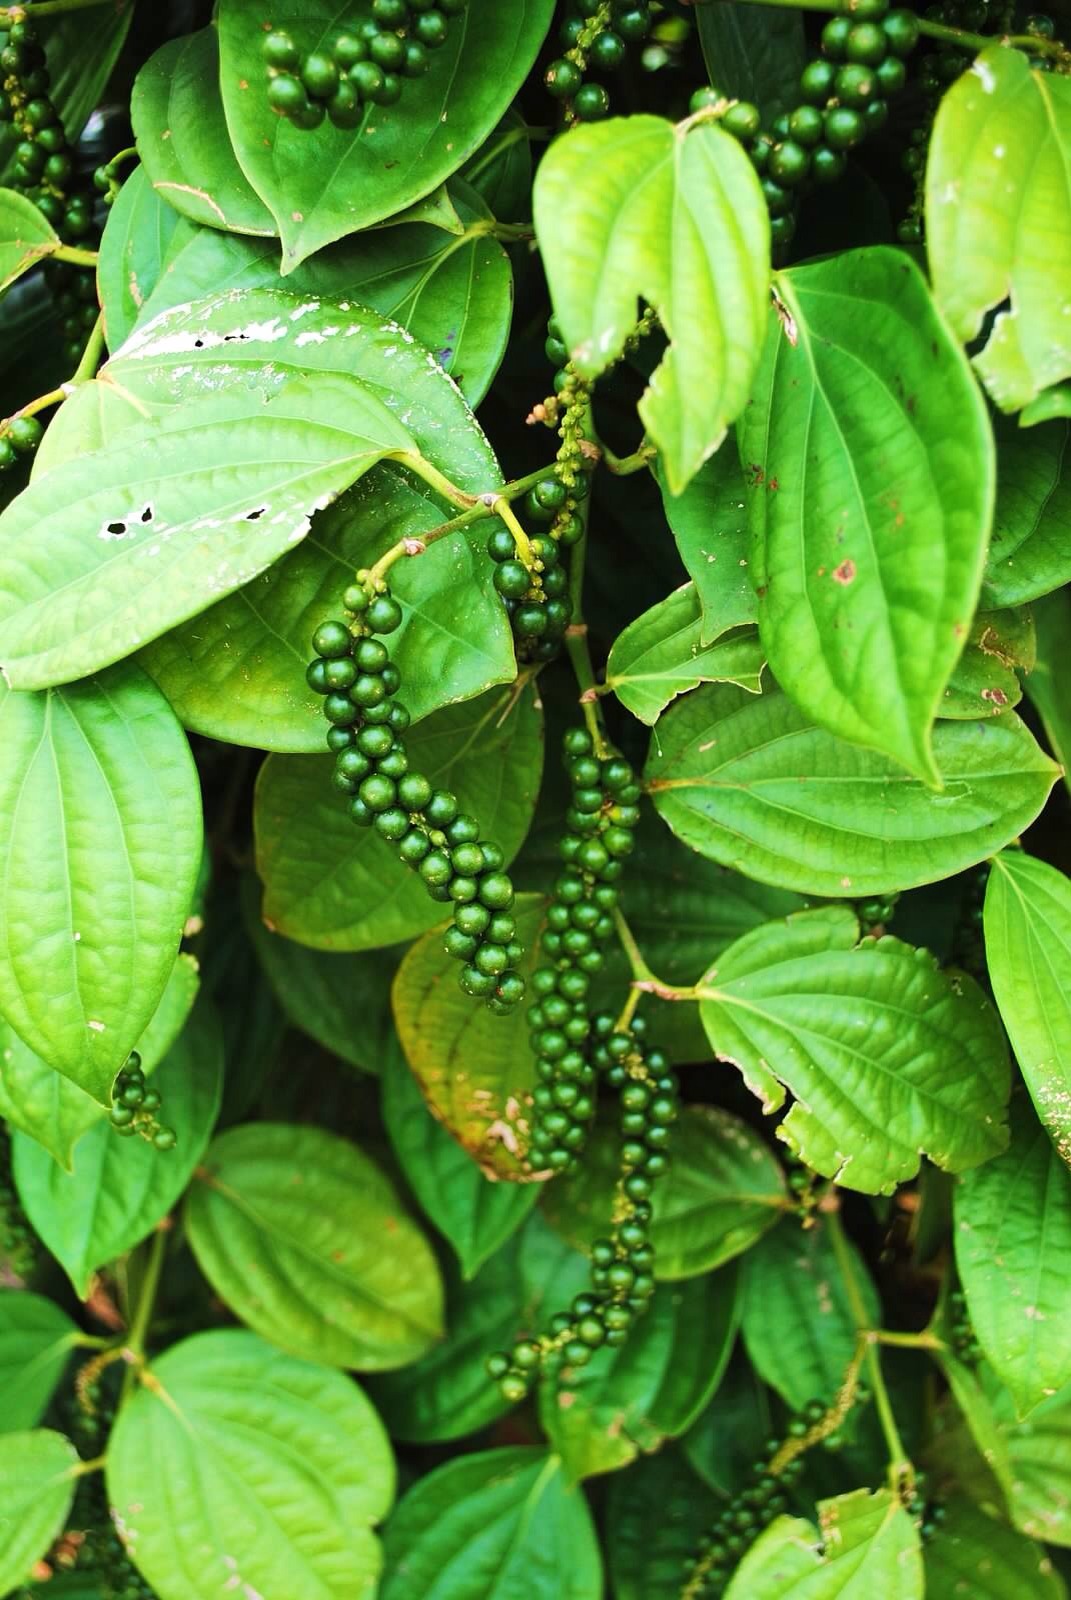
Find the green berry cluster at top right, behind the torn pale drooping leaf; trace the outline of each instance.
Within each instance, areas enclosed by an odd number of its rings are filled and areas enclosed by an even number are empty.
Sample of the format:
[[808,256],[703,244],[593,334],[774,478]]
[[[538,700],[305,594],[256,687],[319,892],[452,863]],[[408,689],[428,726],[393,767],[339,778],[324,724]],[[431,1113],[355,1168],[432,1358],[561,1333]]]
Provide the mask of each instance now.
[[[917,42],[914,11],[890,11],[888,0],[856,0],[852,16],[826,22],[821,56],[800,74],[800,104],[778,117],[768,133],[749,101],[724,112],[722,128],[748,149],[762,178],[775,245],[792,238],[800,194],[812,184],[836,182],[848,150],[885,126],[888,98],[903,88],[905,61]],[[716,88],[698,90],[692,110],[720,102]]]

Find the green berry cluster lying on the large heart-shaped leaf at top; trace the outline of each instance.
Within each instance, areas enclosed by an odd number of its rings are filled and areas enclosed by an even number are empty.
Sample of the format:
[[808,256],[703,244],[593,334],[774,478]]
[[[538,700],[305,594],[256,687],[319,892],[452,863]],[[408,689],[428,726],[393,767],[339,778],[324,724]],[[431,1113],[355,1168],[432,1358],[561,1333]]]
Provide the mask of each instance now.
[[405,78],[421,78],[429,51],[450,35],[450,19],[467,0],[371,0],[371,16],[331,45],[304,54],[288,32],[275,29],[263,43],[267,104],[296,128],[355,128],[368,106],[394,106]]

